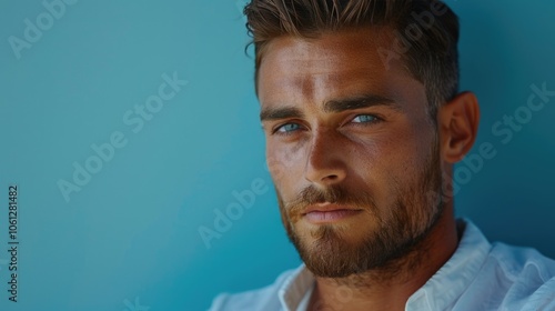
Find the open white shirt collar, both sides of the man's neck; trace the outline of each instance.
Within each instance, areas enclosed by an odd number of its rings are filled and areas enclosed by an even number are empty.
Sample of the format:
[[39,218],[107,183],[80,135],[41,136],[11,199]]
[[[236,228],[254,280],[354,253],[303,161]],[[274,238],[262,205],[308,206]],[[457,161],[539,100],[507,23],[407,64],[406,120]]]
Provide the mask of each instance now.
[[[476,277],[492,245],[480,229],[467,219],[458,247],[451,259],[415,293],[405,310],[445,310],[453,305]],[[296,311],[306,294],[312,293],[315,279],[304,264],[282,283],[279,298],[283,310]]]

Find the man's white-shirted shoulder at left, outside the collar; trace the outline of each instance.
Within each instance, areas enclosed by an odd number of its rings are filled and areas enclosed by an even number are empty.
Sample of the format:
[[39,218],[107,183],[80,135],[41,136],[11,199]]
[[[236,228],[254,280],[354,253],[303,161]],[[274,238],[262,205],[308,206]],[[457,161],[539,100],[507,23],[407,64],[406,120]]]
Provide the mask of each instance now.
[[294,272],[294,269],[282,272],[272,284],[262,289],[235,294],[222,293],[213,300],[210,311],[281,310],[279,291]]

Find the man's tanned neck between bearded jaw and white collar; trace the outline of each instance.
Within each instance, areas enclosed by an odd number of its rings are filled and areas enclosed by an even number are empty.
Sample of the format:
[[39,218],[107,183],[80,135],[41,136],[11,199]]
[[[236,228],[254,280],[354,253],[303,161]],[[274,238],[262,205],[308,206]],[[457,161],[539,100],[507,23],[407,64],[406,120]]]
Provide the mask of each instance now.
[[453,209],[447,208],[406,257],[346,278],[316,278],[309,310],[405,310],[408,298],[454,253],[458,238]]

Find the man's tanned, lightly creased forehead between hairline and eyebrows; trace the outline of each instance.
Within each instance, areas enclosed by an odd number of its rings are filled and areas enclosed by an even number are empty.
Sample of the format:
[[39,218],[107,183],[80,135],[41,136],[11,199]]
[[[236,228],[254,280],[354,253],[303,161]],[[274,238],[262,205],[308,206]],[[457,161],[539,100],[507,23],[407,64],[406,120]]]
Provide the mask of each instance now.
[[325,32],[316,39],[273,39],[261,58],[259,99],[264,106],[284,98],[321,102],[362,92],[401,96],[420,82],[393,53],[391,38],[386,29],[370,28]]

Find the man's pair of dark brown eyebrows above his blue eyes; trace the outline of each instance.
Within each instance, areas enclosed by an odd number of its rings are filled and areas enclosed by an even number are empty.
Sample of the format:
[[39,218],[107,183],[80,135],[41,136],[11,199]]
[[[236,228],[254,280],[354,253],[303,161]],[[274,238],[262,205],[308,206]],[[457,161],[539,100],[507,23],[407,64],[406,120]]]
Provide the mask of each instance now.
[[[376,96],[376,94],[365,94],[354,98],[345,98],[339,100],[330,100],[324,103],[324,112],[343,112],[347,110],[356,110],[362,108],[375,107],[375,106],[386,106],[394,110],[401,110],[401,106],[398,106],[392,99]],[[294,107],[283,107],[283,108],[266,108],[260,112],[260,120],[271,121],[271,120],[281,120],[287,118],[299,118],[302,119],[304,114],[300,109]]]

